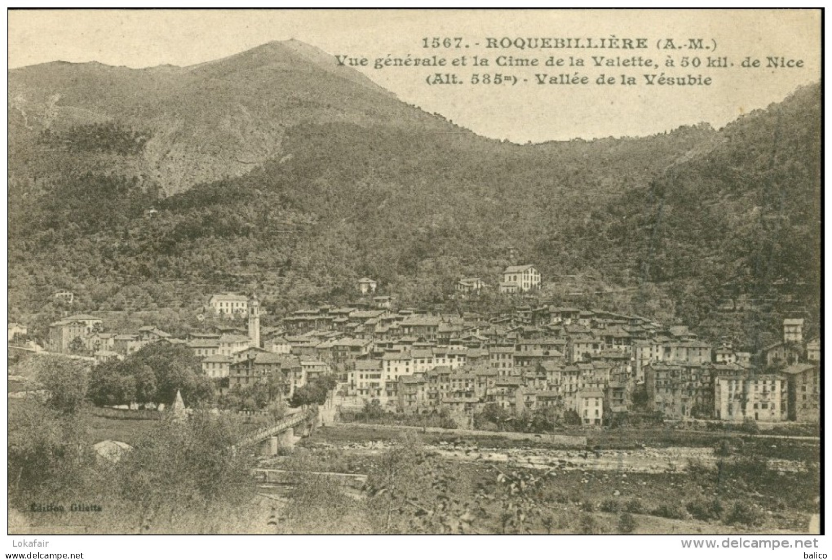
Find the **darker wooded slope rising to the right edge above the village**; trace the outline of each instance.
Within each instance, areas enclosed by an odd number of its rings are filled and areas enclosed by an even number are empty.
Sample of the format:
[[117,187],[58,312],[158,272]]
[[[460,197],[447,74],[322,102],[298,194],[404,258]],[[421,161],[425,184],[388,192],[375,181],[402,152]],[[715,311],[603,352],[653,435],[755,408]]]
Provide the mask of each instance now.
[[775,312],[795,302],[787,307],[817,325],[820,123],[820,86],[805,87],[726,126],[710,150],[592,211],[563,240],[607,275],[629,269],[662,285],[689,323],[752,296]]

